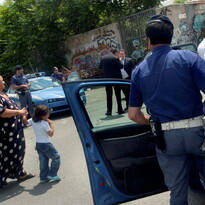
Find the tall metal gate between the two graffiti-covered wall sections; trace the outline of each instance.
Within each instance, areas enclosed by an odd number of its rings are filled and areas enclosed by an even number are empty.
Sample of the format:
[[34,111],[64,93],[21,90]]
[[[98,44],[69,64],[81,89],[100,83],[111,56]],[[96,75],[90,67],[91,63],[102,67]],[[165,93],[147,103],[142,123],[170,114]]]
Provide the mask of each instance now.
[[156,8],[152,8],[118,20],[122,46],[127,56],[136,60],[144,56],[147,50],[146,22],[155,14]]

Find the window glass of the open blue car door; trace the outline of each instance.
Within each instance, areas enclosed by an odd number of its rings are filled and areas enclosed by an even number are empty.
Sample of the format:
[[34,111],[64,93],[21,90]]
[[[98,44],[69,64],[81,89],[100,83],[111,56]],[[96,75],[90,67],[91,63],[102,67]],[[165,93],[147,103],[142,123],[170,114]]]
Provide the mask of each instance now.
[[[112,90],[111,115],[106,115],[108,111],[106,86],[87,87],[85,89],[86,103],[84,103],[84,105],[94,128],[102,128],[102,127],[134,123],[128,118],[128,110],[126,109],[127,107],[126,95],[129,96],[129,93],[125,93],[125,92],[129,92],[129,85],[124,85],[124,86],[113,85],[111,87],[112,87],[111,88]],[[115,89],[120,90],[120,95],[121,95],[120,102],[122,105],[122,113],[118,113],[119,108],[117,105]],[[81,94],[81,99],[83,99],[82,94]],[[142,111],[146,113],[146,108],[144,105],[142,107]]]

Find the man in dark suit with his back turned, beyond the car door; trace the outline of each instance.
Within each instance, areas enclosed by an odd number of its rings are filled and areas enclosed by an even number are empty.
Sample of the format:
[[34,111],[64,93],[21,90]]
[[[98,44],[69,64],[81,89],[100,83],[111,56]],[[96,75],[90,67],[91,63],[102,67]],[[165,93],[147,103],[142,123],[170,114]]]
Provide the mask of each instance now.
[[[102,58],[100,62],[100,68],[103,70],[104,78],[122,78],[120,69],[122,64],[118,59],[118,51],[116,49],[111,50],[109,55],[106,55]],[[115,97],[117,101],[118,114],[123,114],[121,103],[121,88],[119,86],[106,86],[106,95],[107,95],[107,112],[106,115],[112,115],[112,87],[115,91]]]

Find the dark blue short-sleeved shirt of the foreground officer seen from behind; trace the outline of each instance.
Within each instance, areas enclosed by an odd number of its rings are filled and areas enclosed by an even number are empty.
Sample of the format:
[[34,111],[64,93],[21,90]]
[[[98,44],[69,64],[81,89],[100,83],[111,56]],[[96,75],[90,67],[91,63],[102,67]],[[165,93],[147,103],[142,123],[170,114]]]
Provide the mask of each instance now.
[[158,46],[132,73],[129,106],[144,103],[153,119],[169,122],[203,114],[205,61],[185,50]]

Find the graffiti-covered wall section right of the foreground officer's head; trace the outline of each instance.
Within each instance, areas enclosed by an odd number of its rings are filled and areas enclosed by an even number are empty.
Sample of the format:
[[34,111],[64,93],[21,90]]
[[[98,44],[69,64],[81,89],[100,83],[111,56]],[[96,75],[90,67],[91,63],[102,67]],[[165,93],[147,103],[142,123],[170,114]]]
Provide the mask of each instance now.
[[205,37],[205,4],[176,4],[158,9],[158,13],[167,15],[174,23],[173,45],[198,45]]

